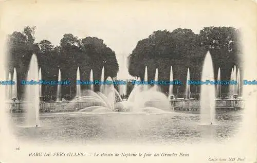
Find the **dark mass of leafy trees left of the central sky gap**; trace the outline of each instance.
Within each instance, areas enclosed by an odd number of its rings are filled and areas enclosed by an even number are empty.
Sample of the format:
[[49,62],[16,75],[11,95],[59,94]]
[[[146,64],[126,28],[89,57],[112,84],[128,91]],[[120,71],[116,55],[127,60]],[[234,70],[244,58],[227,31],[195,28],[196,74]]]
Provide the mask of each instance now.
[[[17,94],[23,99],[25,87],[21,80],[26,80],[30,59],[33,53],[38,58],[43,80],[58,80],[61,69],[62,80],[76,83],[77,67],[80,67],[81,80],[89,80],[90,70],[93,69],[94,79],[100,80],[102,67],[105,67],[105,79],[117,76],[119,65],[115,52],[103,43],[102,39],[86,37],[79,39],[71,33],[66,33],[60,40],[60,45],[53,46],[48,40],[35,42],[35,27],[26,26],[22,32],[14,31],[8,35],[8,52],[6,72],[17,71]],[[85,88],[85,85],[81,86]],[[95,87],[99,89],[98,86]],[[62,95],[76,94],[76,84],[62,86]],[[56,98],[57,86],[42,86],[43,95]],[[48,99],[49,100],[49,99]]]

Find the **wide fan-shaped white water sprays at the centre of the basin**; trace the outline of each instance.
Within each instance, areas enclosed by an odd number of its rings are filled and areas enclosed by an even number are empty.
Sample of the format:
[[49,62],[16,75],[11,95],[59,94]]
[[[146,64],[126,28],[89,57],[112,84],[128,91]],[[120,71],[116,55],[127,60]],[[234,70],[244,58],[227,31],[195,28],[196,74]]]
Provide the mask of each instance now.
[[[102,72],[102,76],[103,74]],[[145,71],[145,77],[147,77],[147,71]],[[158,69],[155,80],[158,81]],[[90,81],[93,81],[92,70],[90,71]],[[107,81],[113,82],[111,77],[107,77]],[[137,81],[141,81],[140,78]],[[126,101],[122,100],[113,84],[104,85],[102,88],[103,90],[100,89],[100,92],[94,92],[91,86],[90,89],[82,91],[81,97],[72,100],[84,103],[84,108],[79,112],[163,112],[163,110],[169,110],[168,98],[157,91],[156,87],[146,90],[144,85],[135,85]]]

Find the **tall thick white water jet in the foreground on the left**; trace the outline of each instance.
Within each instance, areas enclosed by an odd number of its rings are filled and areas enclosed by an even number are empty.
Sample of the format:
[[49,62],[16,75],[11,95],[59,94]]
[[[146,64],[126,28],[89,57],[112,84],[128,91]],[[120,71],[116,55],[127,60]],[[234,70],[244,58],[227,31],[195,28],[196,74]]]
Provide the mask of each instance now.
[[[28,70],[27,81],[39,81],[39,70],[38,70],[38,61],[36,55],[33,54]],[[37,127],[39,126],[39,84],[26,85],[26,121],[27,126]]]

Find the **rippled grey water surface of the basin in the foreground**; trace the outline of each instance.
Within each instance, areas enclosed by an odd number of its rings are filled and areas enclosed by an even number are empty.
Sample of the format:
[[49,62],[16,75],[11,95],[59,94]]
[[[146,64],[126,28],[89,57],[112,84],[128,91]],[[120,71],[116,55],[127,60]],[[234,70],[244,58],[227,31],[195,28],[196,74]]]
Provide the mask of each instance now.
[[199,125],[199,113],[44,113],[41,128],[19,128],[23,114],[12,114],[15,135],[21,141],[173,144],[223,142],[237,133],[242,112],[219,111],[217,125]]

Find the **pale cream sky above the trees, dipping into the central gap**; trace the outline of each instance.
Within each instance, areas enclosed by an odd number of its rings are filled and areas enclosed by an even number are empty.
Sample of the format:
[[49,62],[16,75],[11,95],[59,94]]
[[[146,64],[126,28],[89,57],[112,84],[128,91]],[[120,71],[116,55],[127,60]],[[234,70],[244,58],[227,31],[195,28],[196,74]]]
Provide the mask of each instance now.
[[[190,28],[199,33],[208,26],[239,28],[244,19],[243,15],[235,12],[236,8],[219,1],[47,2],[6,4],[1,15],[2,31],[8,34],[22,31],[27,25],[36,26],[35,41],[46,39],[53,45],[59,45],[64,33],[72,33],[80,39],[103,39],[116,53],[120,65],[118,79],[131,78],[122,66],[124,58],[138,41],[148,38],[153,31]],[[235,2],[234,5],[238,7],[241,4]]]

